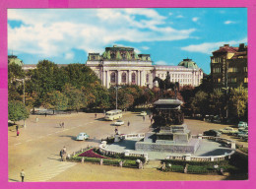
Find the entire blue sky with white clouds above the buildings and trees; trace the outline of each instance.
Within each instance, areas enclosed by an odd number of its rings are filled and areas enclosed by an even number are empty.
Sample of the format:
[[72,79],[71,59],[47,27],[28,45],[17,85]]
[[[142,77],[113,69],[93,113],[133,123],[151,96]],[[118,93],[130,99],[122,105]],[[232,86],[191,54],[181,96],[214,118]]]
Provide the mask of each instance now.
[[8,54],[25,64],[86,63],[116,44],[151,54],[154,65],[190,58],[209,74],[212,52],[239,43],[247,44],[246,8],[8,10]]

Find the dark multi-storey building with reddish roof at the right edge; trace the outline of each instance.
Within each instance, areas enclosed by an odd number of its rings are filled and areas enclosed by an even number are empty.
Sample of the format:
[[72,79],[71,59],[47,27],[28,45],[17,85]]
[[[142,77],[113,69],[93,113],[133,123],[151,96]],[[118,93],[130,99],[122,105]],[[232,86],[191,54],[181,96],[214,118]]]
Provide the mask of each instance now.
[[215,91],[223,88],[248,88],[247,46],[224,44],[211,56],[211,75]]

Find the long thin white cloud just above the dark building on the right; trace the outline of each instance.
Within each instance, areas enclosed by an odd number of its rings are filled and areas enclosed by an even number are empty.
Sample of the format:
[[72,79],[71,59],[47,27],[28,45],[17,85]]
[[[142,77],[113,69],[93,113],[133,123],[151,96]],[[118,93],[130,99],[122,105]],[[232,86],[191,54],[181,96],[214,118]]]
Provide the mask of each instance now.
[[241,40],[230,40],[230,41],[222,41],[222,42],[205,42],[202,44],[191,44],[188,46],[181,47],[182,50],[189,51],[189,52],[201,52],[206,54],[211,54],[214,50],[219,49],[220,46],[224,44],[229,45],[237,45],[239,43],[246,43],[247,37]]

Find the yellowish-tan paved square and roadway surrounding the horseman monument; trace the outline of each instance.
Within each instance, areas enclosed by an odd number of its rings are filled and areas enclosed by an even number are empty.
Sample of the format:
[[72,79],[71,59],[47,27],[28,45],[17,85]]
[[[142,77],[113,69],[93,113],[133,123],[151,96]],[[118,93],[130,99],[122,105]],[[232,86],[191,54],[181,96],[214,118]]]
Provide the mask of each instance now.
[[[36,117],[38,122],[35,121]],[[107,180],[221,180],[223,176],[206,175],[185,175],[180,173],[162,173],[155,169],[145,169],[144,176],[139,170],[103,166],[96,164],[60,161],[59,151],[65,146],[68,153],[79,151],[87,146],[98,146],[102,138],[114,134],[115,126],[111,121],[103,121],[103,114],[94,113],[74,113],[68,115],[54,116],[35,116],[27,120],[27,127],[21,129],[19,137],[15,131],[8,131],[8,155],[9,155],[9,181],[20,181],[20,172],[22,169],[26,172],[25,181],[107,181]],[[123,116],[125,125],[118,127],[119,133],[145,133],[150,126],[150,120],[138,113],[125,112]],[[130,126],[127,126],[128,120]],[[59,123],[64,122],[65,128],[60,128]],[[21,121],[20,124],[22,124]],[[226,125],[206,123],[199,120],[186,119],[185,123],[192,131],[192,134],[199,134],[212,128],[221,129]],[[80,132],[86,132],[90,135],[90,140],[76,141],[76,136]],[[82,174],[84,168],[91,170],[87,174]],[[93,172],[92,172],[93,171]],[[113,175],[99,176],[101,171],[115,171]],[[120,173],[121,171],[121,173]],[[159,174],[159,176],[156,176]],[[158,172],[158,173],[157,173]],[[81,173],[78,175],[78,173]],[[110,177],[109,177],[110,176]],[[182,178],[181,178],[182,177]]]

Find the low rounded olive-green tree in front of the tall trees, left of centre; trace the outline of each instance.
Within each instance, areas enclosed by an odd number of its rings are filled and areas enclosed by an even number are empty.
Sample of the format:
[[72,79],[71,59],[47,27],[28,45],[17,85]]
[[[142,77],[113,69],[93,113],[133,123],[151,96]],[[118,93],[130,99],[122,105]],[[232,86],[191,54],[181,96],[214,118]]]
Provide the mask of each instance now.
[[53,91],[46,95],[42,105],[45,108],[54,110],[66,110],[68,108],[68,97],[59,91]]

